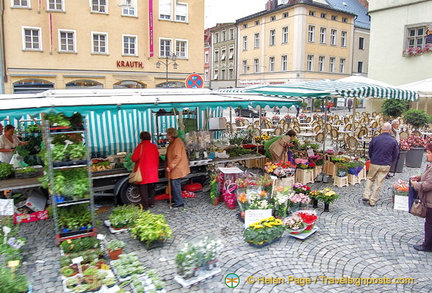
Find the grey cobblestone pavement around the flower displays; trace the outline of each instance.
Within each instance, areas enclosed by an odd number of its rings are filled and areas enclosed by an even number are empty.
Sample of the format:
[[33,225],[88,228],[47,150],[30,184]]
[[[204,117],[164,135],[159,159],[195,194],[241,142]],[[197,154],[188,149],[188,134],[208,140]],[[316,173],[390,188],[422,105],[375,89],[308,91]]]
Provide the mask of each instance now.
[[[424,167],[425,162],[421,169],[404,168],[403,173],[386,180],[376,207],[365,206],[361,201],[364,181],[360,185],[335,187],[340,198],[330,206],[328,213],[319,206],[319,230],[305,240],[285,235],[270,246],[251,247],[242,240],[238,210],[229,210],[224,204],[212,206],[206,192],[186,199],[186,210],[170,210],[165,201],[156,203],[153,212],[164,214],[173,229],[173,237],[161,248],[147,251],[128,233],[113,235],[102,225],[98,232],[109,239],[124,240],[125,252],[136,252],[146,267],[156,269],[166,282],[168,292],[431,292],[432,253],[412,248],[423,240],[423,219],[394,210],[389,190],[397,179],[407,179]],[[109,211],[101,213],[98,219],[107,219],[108,215]],[[22,224],[21,234],[27,238],[23,269],[33,292],[61,292],[60,252],[54,246],[52,220]],[[222,273],[182,288],[173,279],[176,251],[183,243],[206,235],[219,237],[225,244],[220,258]],[[235,289],[224,284],[224,277],[229,273],[240,276],[240,284]],[[254,283],[246,282],[249,276],[254,278]],[[286,280],[288,276],[299,278],[299,282],[301,278],[311,278],[312,283],[302,286],[294,282],[265,284],[258,281],[261,277]],[[393,283],[332,284],[332,279],[323,281],[321,276],[385,277]]]

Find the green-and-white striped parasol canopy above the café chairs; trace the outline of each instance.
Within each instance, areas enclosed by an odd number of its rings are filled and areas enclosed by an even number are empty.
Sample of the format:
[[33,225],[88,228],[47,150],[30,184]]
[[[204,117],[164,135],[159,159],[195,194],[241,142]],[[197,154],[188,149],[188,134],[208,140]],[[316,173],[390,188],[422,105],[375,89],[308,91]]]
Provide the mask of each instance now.
[[336,95],[342,98],[361,99],[382,98],[405,101],[416,101],[418,99],[417,92],[411,90],[403,90],[392,86],[329,79],[259,86],[245,89],[245,91],[286,97],[324,97]]

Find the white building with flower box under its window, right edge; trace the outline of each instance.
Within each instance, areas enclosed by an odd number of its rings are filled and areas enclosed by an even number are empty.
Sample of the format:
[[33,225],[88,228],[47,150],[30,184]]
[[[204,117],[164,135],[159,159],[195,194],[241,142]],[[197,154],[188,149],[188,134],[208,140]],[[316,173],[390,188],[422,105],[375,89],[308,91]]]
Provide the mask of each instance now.
[[[432,76],[431,11],[432,1],[369,1],[370,78],[402,85]],[[381,104],[367,101],[367,109],[381,109]],[[421,100],[419,108],[424,106]]]

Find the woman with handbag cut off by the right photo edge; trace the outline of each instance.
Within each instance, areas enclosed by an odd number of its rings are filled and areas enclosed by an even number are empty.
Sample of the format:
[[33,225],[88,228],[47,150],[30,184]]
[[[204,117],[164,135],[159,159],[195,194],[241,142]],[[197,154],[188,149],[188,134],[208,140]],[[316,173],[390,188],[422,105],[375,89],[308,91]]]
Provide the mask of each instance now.
[[[432,162],[432,143],[426,144],[425,148],[426,158],[430,163]],[[432,164],[426,166],[426,170],[422,175],[412,177],[411,184],[418,191],[418,197],[427,208],[423,244],[414,245],[414,249],[432,252]]]

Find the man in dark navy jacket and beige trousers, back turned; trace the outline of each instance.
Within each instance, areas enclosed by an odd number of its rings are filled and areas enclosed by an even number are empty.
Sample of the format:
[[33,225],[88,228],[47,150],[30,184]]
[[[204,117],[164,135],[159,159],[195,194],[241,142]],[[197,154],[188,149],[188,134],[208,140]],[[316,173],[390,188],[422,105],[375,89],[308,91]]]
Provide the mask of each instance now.
[[375,206],[379,191],[385,180],[390,166],[396,160],[399,147],[396,139],[390,135],[391,124],[386,122],[382,126],[381,134],[374,137],[369,144],[370,167],[366,178],[363,201]]

